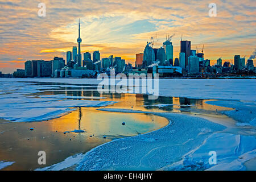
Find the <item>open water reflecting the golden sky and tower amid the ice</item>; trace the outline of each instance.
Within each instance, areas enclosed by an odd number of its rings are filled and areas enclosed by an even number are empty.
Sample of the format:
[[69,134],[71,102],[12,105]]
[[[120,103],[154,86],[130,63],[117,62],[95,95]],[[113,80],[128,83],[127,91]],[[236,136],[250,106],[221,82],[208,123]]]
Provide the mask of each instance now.
[[[38,93],[32,93],[32,96],[35,97],[64,94],[66,96],[102,97],[72,98],[77,100],[117,102],[105,108],[179,113],[202,113],[204,111],[207,114],[217,114],[216,109],[227,110],[226,107],[208,105],[205,103],[207,100],[162,96],[159,96],[157,100],[148,100],[148,96],[143,94],[100,94],[97,92],[97,85],[90,84],[48,82],[31,82],[29,84],[45,87]],[[31,96],[31,94],[27,94],[27,96]],[[147,133],[168,124],[166,118],[152,114],[113,113],[99,111],[95,107],[77,107],[75,109],[63,117],[49,121],[1,124],[0,131],[4,132],[0,134],[0,161],[15,162],[12,166],[4,169],[30,170],[44,167],[38,164],[37,154],[41,150],[46,151],[46,166],[50,166],[63,161],[68,156],[89,151],[112,139]],[[125,122],[125,125],[122,125],[122,122]],[[34,131],[30,131],[30,127],[33,127]],[[64,134],[64,131],[76,129],[86,132]],[[106,139],[103,138],[104,135]]]

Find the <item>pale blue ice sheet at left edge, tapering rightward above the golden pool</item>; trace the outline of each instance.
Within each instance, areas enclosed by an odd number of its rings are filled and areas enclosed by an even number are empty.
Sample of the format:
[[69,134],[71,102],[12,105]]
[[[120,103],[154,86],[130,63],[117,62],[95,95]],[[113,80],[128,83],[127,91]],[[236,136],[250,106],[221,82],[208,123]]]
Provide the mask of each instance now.
[[[70,113],[73,107],[100,107],[114,104],[112,101],[96,101],[102,97],[81,97],[40,95],[47,89],[56,89],[59,85],[34,85],[30,82],[18,82],[0,79],[0,118],[11,122],[43,121],[61,117]],[[32,81],[32,79],[31,79]],[[33,80],[34,81],[34,80]],[[72,87],[75,85],[70,85]],[[36,95],[32,95],[36,93]],[[42,96],[42,97],[40,97]],[[94,100],[75,100],[75,99]]]

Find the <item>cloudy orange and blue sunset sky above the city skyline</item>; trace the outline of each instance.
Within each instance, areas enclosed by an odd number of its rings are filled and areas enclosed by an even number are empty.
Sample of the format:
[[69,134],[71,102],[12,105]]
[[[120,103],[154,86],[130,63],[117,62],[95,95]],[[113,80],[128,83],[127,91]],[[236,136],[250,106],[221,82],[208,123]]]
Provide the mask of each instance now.
[[[46,16],[38,16],[38,4],[46,4]],[[217,16],[210,17],[209,3],[216,3]],[[134,64],[154,37],[155,48],[166,35],[174,35],[174,57],[180,38],[191,40],[192,49],[204,46],[205,58],[216,63],[248,59],[256,48],[255,0],[0,0],[0,71],[24,68],[26,60],[65,57],[77,46],[81,22],[81,51],[99,50],[101,58],[122,56]],[[254,63],[255,64],[255,63]]]

